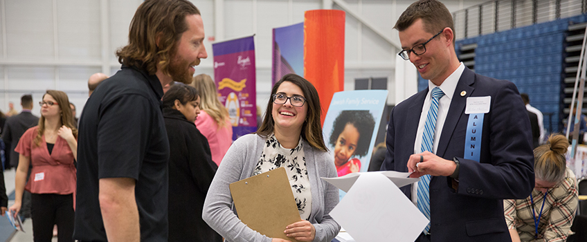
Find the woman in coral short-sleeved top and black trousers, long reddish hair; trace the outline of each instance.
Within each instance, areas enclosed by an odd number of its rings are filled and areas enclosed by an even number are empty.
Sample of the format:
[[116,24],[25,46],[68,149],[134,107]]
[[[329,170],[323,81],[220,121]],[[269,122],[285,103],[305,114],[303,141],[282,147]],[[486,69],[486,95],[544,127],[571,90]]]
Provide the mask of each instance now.
[[[15,204],[10,211],[17,216],[26,189],[31,194],[34,241],[51,241],[55,224],[58,241],[73,241],[78,129],[64,92],[47,90],[39,104],[39,125],[28,129],[15,149],[19,165]],[[27,182],[29,165],[32,168]]]

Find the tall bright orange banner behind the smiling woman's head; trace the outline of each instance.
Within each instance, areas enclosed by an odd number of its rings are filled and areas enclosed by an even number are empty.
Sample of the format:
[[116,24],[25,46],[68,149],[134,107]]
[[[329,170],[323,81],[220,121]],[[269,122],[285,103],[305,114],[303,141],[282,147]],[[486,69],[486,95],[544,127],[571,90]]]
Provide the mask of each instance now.
[[322,106],[322,124],[332,95],[344,91],[345,12],[309,10],[304,20],[304,77],[314,84]]

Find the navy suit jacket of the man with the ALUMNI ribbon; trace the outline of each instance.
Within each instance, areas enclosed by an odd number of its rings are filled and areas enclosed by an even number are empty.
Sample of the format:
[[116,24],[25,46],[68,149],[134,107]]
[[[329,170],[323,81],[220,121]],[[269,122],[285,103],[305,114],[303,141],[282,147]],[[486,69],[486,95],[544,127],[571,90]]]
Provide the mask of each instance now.
[[[461,96],[462,91],[466,95]],[[408,171],[418,120],[428,89],[392,109],[381,170]],[[480,162],[467,160],[464,144],[467,97],[491,96],[485,113]],[[431,241],[510,241],[503,199],[526,198],[534,189],[532,133],[526,109],[512,82],[465,68],[446,115],[436,155],[460,162],[458,182],[433,176],[430,182]],[[411,198],[411,185],[401,187]]]

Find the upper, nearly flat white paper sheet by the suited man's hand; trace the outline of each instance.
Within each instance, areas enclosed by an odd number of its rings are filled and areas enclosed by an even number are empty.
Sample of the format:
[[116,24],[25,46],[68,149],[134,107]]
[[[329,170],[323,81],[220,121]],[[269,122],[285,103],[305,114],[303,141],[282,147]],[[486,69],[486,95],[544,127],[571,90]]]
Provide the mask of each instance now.
[[419,180],[419,178],[408,178],[411,174],[409,172],[399,172],[399,171],[370,171],[370,172],[355,172],[350,173],[345,176],[335,177],[335,178],[325,178],[323,177],[322,180],[327,181],[328,183],[334,185],[334,187],[338,187],[338,189],[343,190],[344,192],[348,192],[350,187],[355,183],[356,179],[361,176],[361,174],[368,174],[368,173],[380,173],[383,176],[389,178],[397,187],[403,187],[408,184],[415,183]]

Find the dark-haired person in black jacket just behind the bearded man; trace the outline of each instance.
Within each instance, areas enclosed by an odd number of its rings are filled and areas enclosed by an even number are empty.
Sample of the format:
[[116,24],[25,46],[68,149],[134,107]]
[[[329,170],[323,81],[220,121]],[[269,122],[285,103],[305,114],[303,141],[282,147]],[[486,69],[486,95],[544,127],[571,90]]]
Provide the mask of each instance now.
[[196,129],[200,97],[192,86],[176,83],[163,95],[169,159],[169,241],[222,241],[202,220],[208,188],[216,173],[210,145]]

